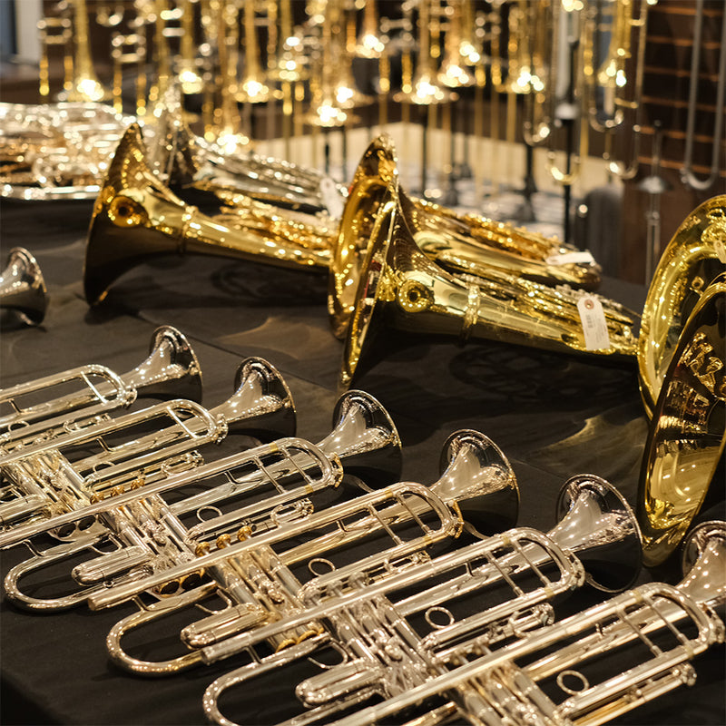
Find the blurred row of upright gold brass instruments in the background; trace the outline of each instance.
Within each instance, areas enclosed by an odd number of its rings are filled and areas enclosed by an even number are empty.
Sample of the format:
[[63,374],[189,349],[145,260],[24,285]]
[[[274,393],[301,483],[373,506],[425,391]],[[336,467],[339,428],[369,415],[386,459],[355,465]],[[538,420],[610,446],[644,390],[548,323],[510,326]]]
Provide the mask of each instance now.
[[[268,137],[276,135],[280,109],[290,159],[292,137],[346,129],[355,108],[372,103],[378,103],[379,131],[394,102],[402,104],[404,123],[424,108],[426,124],[440,123],[450,134],[456,90],[473,87],[475,133],[486,125],[486,89],[490,136],[500,138],[505,99],[505,140],[515,142],[521,127],[527,144],[546,148],[557,182],[574,182],[590,132],[604,135],[610,172],[631,178],[638,164],[647,14],[656,2],[409,0],[386,17],[374,0],[309,0],[304,15],[289,0],[64,0],[40,24],[40,94],[43,102],[110,101],[121,114],[124,79],[131,78],[134,98],[125,110],[145,122],[178,84],[185,97],[201,99],[203,137],[229,152],[250,143],[251,106],[268,104]],[[105,26],[112,37],[106,83],[93,63],[93,26]],[[52,99],[48,68],[57,46],[63,91]],[[358,89],[356,60],[378,63],[375,93]],[[449,162],[453,167],[453,157]],[[422,196],[426,190],[423,182]]]

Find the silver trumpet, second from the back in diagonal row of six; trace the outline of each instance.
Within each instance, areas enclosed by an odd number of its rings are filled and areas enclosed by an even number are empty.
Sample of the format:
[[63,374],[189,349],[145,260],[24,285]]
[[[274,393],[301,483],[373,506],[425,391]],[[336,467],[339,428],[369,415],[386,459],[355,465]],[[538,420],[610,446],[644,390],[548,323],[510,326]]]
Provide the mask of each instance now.
[[210,410],[172,399],[0,456],[0,537],[199,466],[197,447],[230,431],[262,439],[294,431],[292,397],[270,363],[247,358],[235,384],[234,394]]

